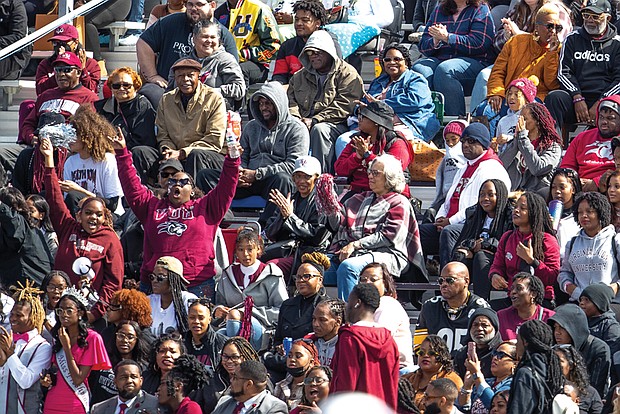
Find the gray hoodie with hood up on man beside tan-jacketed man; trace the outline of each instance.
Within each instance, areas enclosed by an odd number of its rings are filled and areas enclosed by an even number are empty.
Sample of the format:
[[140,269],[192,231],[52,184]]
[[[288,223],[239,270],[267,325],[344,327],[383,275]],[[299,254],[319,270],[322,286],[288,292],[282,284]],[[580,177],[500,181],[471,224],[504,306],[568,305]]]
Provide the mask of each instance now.
[[[278,119],[272,129],[267,128],[258,108],[259,97],[265,97],[275,105]],[[289,114],[284,87],[278,82],[265,83],[252,96],[250,110],[254,119],[241,133],[241,166],[261,171],[261,179],[279,172],[292,174],[295,160],[308,154],[310,136],[308,128]]]

